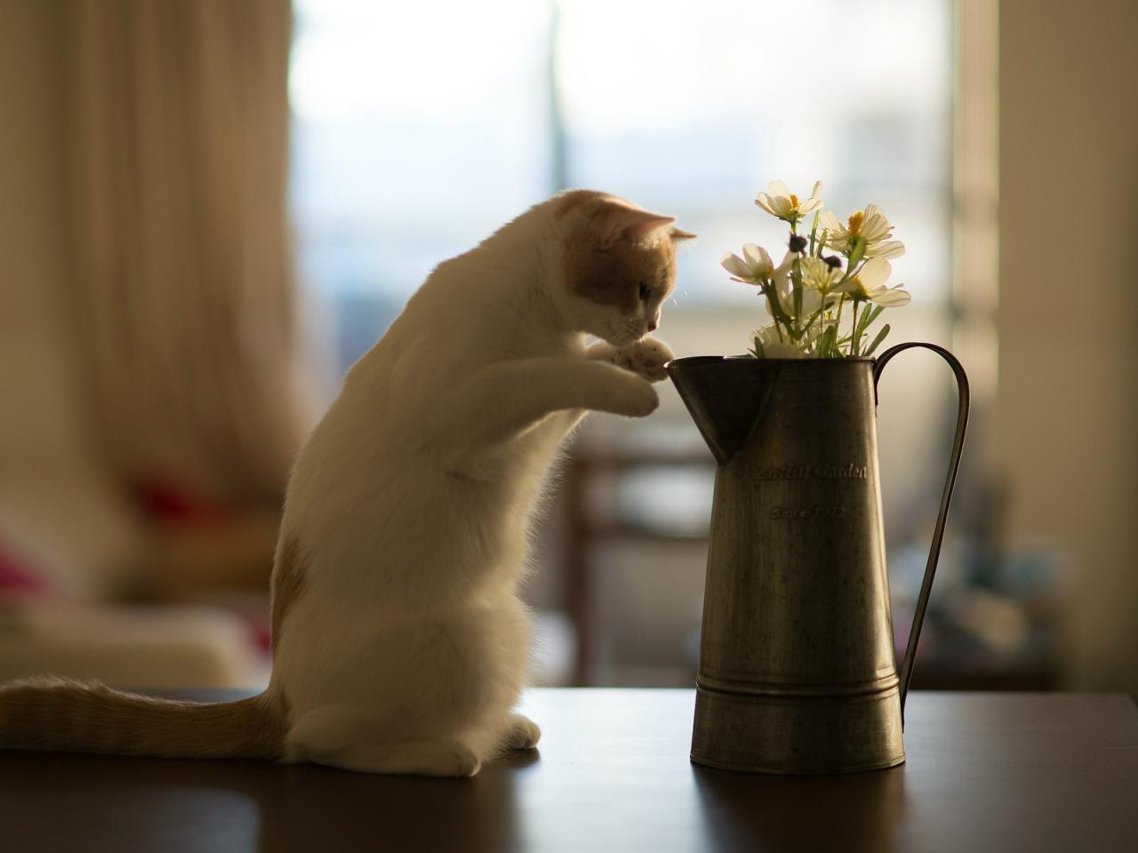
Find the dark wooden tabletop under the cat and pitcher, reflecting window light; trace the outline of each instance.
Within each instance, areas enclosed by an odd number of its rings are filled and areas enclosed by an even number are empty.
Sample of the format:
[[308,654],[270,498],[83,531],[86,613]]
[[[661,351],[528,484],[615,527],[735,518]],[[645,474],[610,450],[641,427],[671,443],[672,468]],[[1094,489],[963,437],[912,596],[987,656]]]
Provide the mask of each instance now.
[[1138,851],[1123,696],[915,693],[907,764],[815,778],[690,764],[692,705],[533,690],[539,754],[465,781],[0,753],[0,850]]

